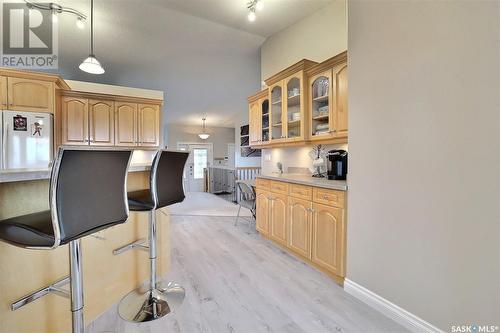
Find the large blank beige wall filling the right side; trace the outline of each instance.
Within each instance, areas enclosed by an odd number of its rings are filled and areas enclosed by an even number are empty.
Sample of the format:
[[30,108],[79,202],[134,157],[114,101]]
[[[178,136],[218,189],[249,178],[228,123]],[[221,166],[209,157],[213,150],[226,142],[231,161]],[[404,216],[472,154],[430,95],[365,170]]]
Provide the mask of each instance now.
[[500,2],[349,2],[347,278],[500,324]]

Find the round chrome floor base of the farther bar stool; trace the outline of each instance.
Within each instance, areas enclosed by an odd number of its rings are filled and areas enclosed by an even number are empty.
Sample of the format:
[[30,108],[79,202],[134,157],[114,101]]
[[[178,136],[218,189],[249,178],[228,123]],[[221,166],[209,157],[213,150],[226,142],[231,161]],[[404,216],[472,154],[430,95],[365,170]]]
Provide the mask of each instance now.
[[184,288],[172,282],[166,287],[157,284],[153,290],[149,286],[139,287],[121,300],[118,314],[123,320],[134,323],[152,321],[176,310],[185,295]]

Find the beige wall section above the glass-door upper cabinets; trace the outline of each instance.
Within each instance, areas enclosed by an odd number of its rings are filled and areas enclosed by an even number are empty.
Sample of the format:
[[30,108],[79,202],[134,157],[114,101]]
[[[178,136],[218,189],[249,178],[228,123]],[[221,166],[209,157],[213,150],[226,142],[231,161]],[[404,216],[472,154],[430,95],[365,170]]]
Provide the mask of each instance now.
[[322,62],[346,49],[346,1],[336,0],[266,39],[261,48],[261,80],[304,58]]

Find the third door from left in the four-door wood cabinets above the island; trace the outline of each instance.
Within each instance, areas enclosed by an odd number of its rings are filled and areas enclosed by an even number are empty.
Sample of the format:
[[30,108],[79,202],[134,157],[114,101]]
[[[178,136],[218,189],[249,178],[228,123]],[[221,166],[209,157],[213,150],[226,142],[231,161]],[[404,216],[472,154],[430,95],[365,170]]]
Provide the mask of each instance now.
[[115,145],[137,146],[137,104],[115,103]]

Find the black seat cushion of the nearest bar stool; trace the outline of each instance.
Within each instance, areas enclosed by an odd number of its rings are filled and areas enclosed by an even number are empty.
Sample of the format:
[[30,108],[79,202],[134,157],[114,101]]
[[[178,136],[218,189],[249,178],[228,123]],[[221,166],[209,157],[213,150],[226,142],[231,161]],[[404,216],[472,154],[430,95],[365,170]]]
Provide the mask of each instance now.
[[52,246],[54,228],[50,210],[1,221],[0,239],[17,246]]

